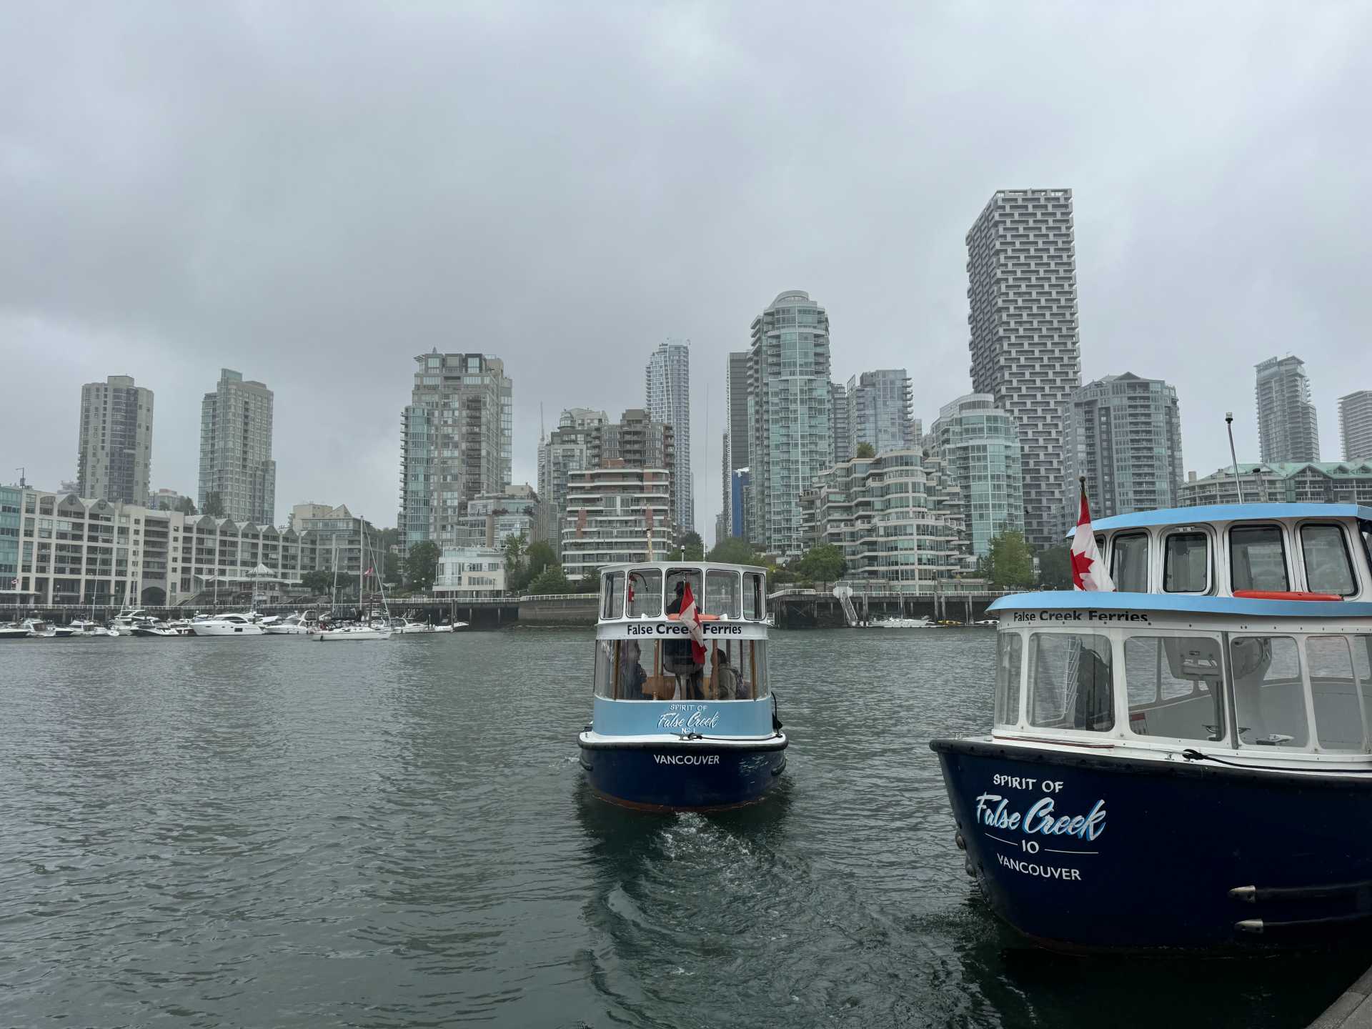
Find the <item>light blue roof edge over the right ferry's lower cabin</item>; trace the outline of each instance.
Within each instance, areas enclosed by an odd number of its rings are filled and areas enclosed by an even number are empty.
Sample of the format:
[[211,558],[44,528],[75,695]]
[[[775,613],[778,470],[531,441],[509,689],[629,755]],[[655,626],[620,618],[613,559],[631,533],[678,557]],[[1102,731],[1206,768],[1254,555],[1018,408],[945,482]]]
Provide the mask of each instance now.
[[[1291,504],[1284,506],[1331,505]],[[1158,611],[1179,615],[1228,615],[1231,617],[1372,619],[1372,604],[1365,601],[1276,601],[1249,597],[1199,597],[1183,593],[1083,593],[1080,590],[1015,593],[1010,597],[1002,597],[986,611]],[[1083,619],[1081,624],[1091,626],[1093,623],[1089,619]],[[1122,622],[1102,619],[1102,624],[1118,626]]]

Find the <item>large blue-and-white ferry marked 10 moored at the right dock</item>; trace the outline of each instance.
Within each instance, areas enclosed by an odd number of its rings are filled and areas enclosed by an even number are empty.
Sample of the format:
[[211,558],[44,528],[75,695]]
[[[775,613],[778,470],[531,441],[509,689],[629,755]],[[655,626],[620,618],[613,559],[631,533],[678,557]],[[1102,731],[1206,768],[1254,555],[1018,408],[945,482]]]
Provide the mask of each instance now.
[[992,730],[930,744],[991,907],[1073,951],[1372,929],[1372,508],[1095,531],[1120,591],[996,601]]

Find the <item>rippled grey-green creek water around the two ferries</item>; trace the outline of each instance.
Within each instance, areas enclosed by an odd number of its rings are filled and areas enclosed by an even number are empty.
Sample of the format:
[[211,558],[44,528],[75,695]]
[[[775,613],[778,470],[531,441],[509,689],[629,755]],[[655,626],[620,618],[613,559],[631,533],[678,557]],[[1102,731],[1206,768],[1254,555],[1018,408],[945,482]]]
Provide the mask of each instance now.
[[926,746],[992,650],[777,634],[785,782],[702,818],[586,793],[586,632],[0,643],[0,1025],[1217,1029],[1351,982],[1022,948]]

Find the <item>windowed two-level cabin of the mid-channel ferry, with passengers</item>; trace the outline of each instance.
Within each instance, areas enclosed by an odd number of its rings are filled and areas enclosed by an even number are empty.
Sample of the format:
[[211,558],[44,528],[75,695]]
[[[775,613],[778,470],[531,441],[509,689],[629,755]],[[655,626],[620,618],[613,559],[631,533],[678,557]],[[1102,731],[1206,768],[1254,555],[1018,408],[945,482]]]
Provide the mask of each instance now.
[[[766,617],[761,568],[668,561],[604,568],[595,697],[764,700],[770,696]],[[700,639],[693,639],[691,623],[700,626]]]

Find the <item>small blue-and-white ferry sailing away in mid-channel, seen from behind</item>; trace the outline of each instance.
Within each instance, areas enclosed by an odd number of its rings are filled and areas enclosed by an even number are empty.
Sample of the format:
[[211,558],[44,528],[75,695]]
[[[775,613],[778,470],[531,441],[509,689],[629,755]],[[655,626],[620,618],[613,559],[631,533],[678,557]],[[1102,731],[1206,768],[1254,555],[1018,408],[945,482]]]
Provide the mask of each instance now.
[[652,811],[760,801],[786,767],[767,682],[761,568],[601,569],[593,722],[580,761],[602,799]]

